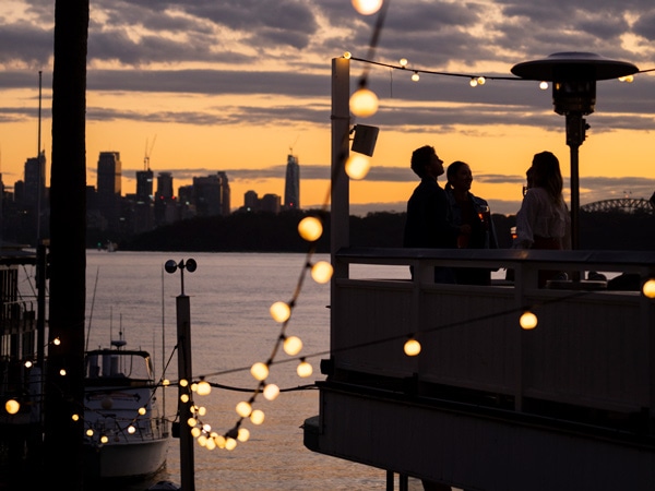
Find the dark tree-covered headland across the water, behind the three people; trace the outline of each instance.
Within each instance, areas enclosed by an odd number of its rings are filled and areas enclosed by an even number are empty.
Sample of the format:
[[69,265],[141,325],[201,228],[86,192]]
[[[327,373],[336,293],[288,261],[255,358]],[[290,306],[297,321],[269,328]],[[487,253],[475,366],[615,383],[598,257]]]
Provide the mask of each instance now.
[[[228,216],[196,217],[126,238],[119,250],[184,252],[306,252],[307,242],[298,235],[305,216],[320,216],[323,235],[317,252],[330,252],[330,213],[291,211],[233,213]],[[511,248],[515,215],[492,215],[501,248]],[[350,246],[403,247],[405,213],[376,212],[350,216]],[[94,247],[95,243],[90,244]],[[626,212],[580,212],[580,249],[653,250],[655,215]]]

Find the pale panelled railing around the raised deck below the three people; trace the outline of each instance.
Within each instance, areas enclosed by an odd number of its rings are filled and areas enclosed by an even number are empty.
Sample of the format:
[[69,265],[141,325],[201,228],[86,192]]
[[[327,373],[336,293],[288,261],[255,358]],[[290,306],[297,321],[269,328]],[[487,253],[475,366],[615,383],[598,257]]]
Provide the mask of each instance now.
[[[603,282],[537,286],[539,270],[574,278],[590,271],[608,278],[631,274],[643,284],[655,277],[654,252],[345,248],[334,261],[336,372],[500,394],[513,398],[517,410],[526,398],[655,410],[655,300],[636,287],[611,290]],[[373,264],[390,274],[376,267],[372,277],[352,275]],[[414,278],[398,277],[398,267],[409,266]],[[434,266],[509,268],[514,280],[434,284]],[[531,331],[519,322],[526,310],[538,319]],[[418,357],[403,351],[409,336],[421,344]]]

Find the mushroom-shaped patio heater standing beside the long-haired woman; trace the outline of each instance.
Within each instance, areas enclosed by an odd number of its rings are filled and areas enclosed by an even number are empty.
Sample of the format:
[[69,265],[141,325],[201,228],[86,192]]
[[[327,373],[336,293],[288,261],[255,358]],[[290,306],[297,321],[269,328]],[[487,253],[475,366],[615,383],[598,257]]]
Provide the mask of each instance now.
[[556,52],[540,60],[512,67],[512,73],[527,80],[552,82],[555,112],[567,118],[567,145],[571,149],[571,247],[580,247],[580,182],[577,148],[588,128],[583,116],[594,112],[596,81],[618,79],[639,69],[626,61],[610,60],[593,52]]

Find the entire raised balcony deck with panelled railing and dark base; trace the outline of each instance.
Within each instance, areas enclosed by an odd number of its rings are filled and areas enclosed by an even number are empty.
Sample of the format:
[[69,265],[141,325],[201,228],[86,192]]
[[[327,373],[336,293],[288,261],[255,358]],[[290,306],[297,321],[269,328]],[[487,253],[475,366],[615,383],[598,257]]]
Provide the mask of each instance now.
[[[537,287],[539,270],[655,277],[655,253],[343,248],[333,261],[309,448],[462,489],[655,487],[655,301],[603,282]],[[416,274],[350,277],[356,264]],[[436,265],[514,282],[434,284]]]

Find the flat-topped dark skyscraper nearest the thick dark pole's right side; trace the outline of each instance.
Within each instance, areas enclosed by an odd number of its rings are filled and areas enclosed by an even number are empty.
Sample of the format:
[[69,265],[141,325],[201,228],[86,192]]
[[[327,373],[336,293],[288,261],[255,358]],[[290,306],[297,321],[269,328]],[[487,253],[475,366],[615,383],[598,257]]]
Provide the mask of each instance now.
[[100,215],[107,219],[110,231],[118,231],[120,228],[121,170],[119,152],[100,152],[96,199]]

